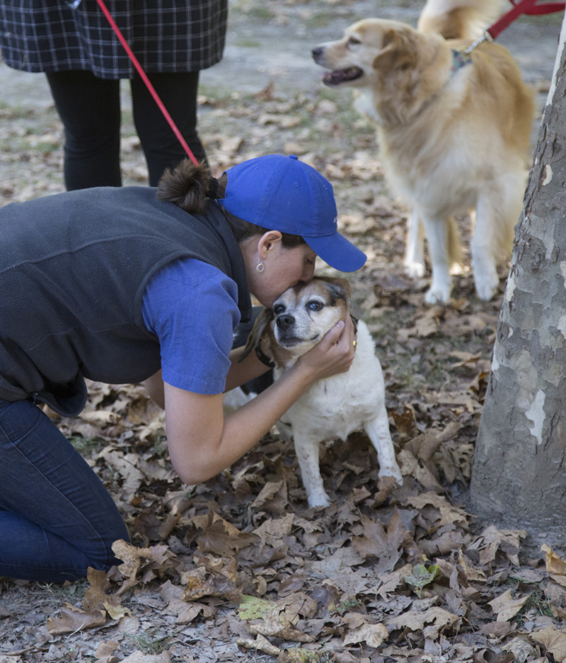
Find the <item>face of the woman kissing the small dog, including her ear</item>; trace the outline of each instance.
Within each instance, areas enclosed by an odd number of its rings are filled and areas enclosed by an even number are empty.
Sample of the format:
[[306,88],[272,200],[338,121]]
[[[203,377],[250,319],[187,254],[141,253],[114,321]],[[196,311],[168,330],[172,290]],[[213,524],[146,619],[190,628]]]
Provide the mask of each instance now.
[[[243,255],[250,291],[269,309],[287,288],[311,281],[314,276],[316,253],[307,244],[285,248],[277,231],[269,231],[261,238],[250,238]],[[260,260],[264,265],[262,272],[255,268]]]

